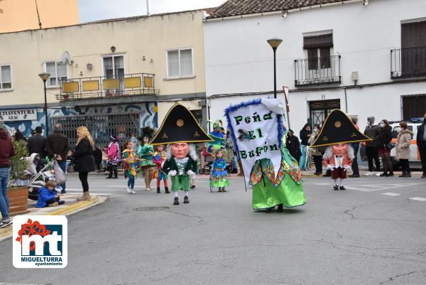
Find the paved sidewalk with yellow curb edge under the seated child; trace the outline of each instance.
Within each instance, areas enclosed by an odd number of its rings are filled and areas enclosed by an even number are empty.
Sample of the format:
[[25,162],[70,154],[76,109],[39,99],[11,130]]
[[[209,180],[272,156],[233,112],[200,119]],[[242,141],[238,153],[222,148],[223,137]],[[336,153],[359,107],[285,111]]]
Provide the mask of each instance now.
[[[72,215],[74,213],[85,210],[94,205],[104,203],[108,197],[92,195],[92,199],[88,201],[78,202],[75,200],[80,195],[65,194],[61,196],[61,200],[65,201],[65,204],[59,205],[56,207],[45,207],[45,208],[35,208],[37,201],[28,200],[28,213],[23,215]],[[12,216],[13,218],[13,216]],[[13,224],[7,227],[0,229],[0,241],[6,240],[12,236]]]

